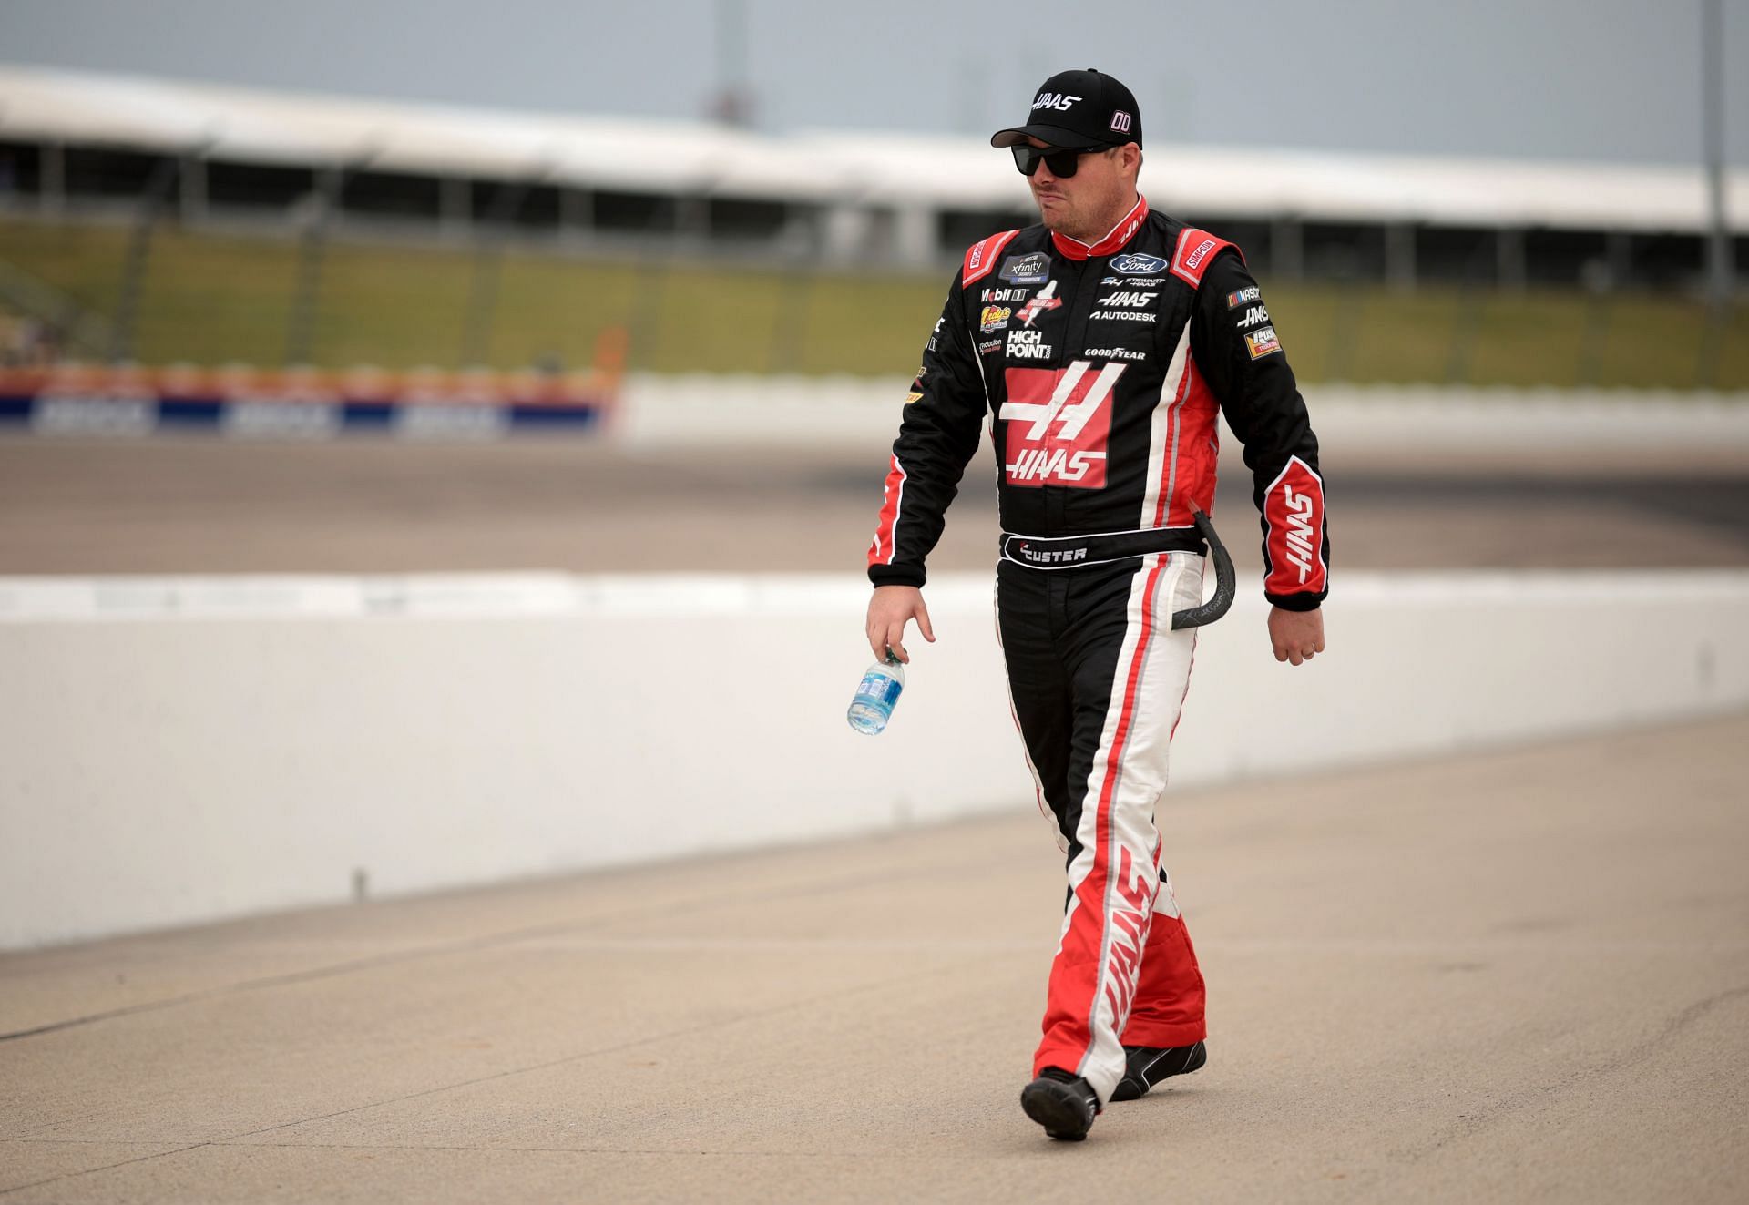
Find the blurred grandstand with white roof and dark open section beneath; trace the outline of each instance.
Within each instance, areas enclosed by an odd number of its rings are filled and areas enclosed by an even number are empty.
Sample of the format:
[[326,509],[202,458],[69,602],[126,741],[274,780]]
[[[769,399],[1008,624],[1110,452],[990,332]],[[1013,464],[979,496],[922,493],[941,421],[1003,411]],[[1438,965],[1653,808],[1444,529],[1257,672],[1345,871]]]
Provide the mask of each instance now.
[[[0,215],[916,269],[1032,220],[981,140],[355,100],[0,66]],[[1698,290],[1700,164],[1154,143],[1156,208],[1277,280]],[[1749,171],[1728,177],[1749,248]]]

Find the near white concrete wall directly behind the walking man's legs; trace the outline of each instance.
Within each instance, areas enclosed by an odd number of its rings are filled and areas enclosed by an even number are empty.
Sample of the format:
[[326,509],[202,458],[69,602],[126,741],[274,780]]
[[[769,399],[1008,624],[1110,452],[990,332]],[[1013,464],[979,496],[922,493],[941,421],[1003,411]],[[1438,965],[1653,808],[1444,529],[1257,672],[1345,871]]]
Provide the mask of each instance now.
[[[0,948],[1032,810],[990,581],[892,728],[831,577],[0,579]],[[1749,707],[1749,574],[1347,574],[1205,630],[1177,787]],[[916,642],[922,644],[922,642]],[[1170,803],[1167,808],[1170,831]],[[1041,841],[1048,832],[1041,825]]]

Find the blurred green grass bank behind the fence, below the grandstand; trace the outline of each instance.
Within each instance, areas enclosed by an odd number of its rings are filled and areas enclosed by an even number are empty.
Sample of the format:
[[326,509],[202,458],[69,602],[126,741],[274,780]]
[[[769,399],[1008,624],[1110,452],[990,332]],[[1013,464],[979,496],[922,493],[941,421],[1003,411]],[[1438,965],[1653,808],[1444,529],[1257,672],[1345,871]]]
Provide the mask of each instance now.
[[[0,261],[110,317],[129,231],[0,220]],[[145,364],[278,366],[297,282],[292,240],[154,234],[135,332]],[[509,248],[331,241],[311,359],[322,367],[460,367],[481,266],[495,273],[484,360],[586,367],[600,334],[631,336],[631,367],[654,373],[906,376],[948,275],[791,271],[675,259],[577,259]],[[1265,280],[1265,297],[1305,381],[1697,388],[1714,339],[1712,387],[1749,388],[1749,311],[1709,331],[1698,301],[1669,294],[1499,292],[1427,285]]]

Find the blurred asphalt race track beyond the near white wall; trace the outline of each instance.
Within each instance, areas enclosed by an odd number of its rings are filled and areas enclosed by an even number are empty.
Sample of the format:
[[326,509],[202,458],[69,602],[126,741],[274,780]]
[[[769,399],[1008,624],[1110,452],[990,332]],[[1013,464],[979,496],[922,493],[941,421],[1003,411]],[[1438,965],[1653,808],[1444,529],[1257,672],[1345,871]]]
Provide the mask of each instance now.
[[[932,568],[995,561],[979,451]],[[0,574],[861,572],[885,451],[0,437]],[[1749,458],[1326,455],[1343,568],[1749,565]],[[1242,472],[1216,518],[1259,565]],[[1338,596],[1340,602],[1340,596]]]

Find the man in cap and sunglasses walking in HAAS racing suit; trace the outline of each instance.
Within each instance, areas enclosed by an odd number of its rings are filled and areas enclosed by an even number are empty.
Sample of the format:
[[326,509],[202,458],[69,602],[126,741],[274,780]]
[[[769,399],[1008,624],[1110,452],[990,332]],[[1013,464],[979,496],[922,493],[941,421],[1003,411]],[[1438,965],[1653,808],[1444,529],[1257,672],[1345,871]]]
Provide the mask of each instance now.
[[1160,869],[1154,806],[1189,684],[1216,411],[1244,442],[1263,525],[1270,644],[1324,651],[1329,540],[1317,439],[1268,308],[1226,240],[1149,212],[1142,115],[1100,72],[1044,82],[1011,147],[1042,222],[976,243],[911,385],[869,579],[868,638],[934,640],[923,561],[986,418],[1002,519],[997,631],[1041,808],[1067,853],[1027,1116],[1095,1114],[1203,1065],[1203,981]]

